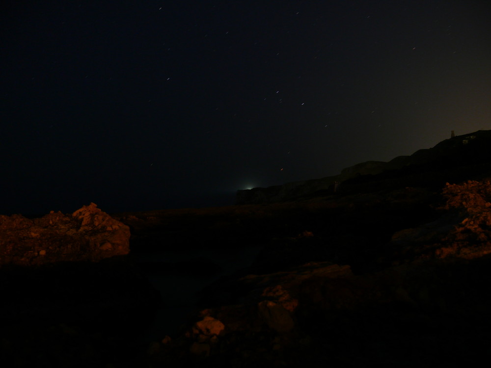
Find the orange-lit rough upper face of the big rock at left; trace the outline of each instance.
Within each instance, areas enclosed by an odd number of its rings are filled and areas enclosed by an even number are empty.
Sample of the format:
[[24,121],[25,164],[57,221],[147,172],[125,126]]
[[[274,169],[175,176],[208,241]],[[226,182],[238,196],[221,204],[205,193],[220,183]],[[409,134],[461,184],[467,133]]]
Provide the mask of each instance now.
[[0,265],[100,261],[129,253],[130,229],[91,203],[71,215],[0,215]]

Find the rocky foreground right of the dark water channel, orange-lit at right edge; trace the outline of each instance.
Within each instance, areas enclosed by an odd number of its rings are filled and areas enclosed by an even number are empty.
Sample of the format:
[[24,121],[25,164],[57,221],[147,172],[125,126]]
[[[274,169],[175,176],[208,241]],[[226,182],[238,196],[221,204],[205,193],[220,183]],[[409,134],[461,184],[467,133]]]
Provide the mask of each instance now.
[[[406,192],[383,198],[396,203],[394,198],[423,193]],[[318,258],[329,257],[322,248],[342,254],[350,247],[333,244],[340,237],[316,240],[314,231],[283,243],[283,253],[294,257],[273,265],[282,270],[219,280],[203,290],[200,309],[181,335],[163,336],[151,346],[150,365],[460,367],[490,359],[491,183],[447,184],[441,194],[432,222],[393,228],[392,238],[380,237],[385,242],[371,246],[373,256],[357,244],[354,250],[376,267],[292,266],[293,258],[300,259],[297,249]],[[373,202],[373,193],[364,197],[364,205]],[[385,212],[375,209],[389,208],[382,199],[373,203],[369,214],[384,219]],[[404,206],[410,209],[410,201]],[[346,214],[345,220],[358,218]],[[282,256],[279,244],[255,269],[267,269]],[[350,253],[340,258],[358,259]]]

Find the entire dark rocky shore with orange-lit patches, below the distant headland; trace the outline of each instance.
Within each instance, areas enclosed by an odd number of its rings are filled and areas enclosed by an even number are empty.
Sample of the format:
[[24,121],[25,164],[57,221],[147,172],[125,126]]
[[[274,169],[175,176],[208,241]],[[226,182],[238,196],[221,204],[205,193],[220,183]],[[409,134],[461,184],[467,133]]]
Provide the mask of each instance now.
[[0,216],[3,366],[481,364],[491,145],[479,139],[452,165],[282,203]]

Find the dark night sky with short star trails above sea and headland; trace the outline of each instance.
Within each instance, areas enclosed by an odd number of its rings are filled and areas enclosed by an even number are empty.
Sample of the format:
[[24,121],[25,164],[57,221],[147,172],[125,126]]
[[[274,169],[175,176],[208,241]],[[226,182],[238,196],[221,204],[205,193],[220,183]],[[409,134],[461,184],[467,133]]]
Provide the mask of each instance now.
[[4,1],[0,213],[234,204],[491,129],[491,1]]

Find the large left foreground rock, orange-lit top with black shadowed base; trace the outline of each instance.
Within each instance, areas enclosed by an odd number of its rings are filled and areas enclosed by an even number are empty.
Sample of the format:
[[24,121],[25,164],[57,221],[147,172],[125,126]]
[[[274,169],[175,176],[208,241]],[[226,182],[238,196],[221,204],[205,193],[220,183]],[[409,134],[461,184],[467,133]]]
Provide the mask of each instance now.
[[[160,294],[95,204],[0,216],[2,367],[136,367]],[[142,350],[143,351],[143,350]]]

